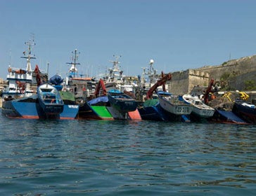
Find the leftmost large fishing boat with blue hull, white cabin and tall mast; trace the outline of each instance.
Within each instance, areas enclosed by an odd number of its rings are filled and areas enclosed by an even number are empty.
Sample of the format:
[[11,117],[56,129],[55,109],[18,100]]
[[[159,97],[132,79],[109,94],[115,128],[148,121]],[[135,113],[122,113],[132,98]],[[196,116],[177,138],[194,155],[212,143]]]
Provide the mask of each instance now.
[[[4,87],[1,93],[2,110],[1,113],[9,118],[39,118],[36,104],[37,83],[36,73],[32,71],[31,59],[35,59],[32,54],[32,47],[35,45],[34,38],[25,42],[27,50],[23,52],[21,58],[27,59],[26,69],[8,66],[8,86]],[[37,69],[37,65],[35,70]],[[46,73],[39,73],[39,76],[46,78]]]

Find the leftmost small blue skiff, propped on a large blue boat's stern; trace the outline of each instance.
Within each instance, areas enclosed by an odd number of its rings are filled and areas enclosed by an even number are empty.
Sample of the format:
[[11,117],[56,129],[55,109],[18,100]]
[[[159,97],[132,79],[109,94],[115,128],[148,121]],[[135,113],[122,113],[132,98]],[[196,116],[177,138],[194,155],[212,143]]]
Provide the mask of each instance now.
[[56,87],[48,83],[37,87],[39,100],[39,118],[59,119],[63,112],[64,104]]

